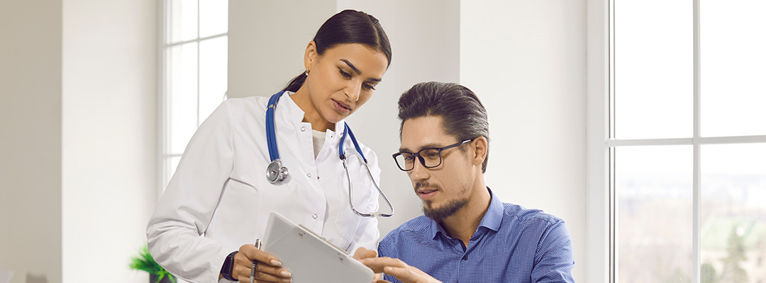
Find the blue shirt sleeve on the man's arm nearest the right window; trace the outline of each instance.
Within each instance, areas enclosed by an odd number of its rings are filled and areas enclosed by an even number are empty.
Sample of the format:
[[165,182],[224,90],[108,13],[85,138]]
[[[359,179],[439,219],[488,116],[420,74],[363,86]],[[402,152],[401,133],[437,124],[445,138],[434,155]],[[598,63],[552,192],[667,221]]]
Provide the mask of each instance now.
[[575,266],[569,231],[563,220],[545,229],[535,252],[532,282],[575,282],[571,271]]

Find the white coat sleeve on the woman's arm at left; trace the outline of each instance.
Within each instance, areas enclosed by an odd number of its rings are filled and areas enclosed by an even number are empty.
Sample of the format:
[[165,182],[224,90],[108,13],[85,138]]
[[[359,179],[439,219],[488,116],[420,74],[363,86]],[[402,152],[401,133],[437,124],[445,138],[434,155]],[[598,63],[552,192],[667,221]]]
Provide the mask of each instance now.
[[218,281],[224,259],[233,252],[201,236],[234,166],[233,132],[225,101],[189,141],[146,228],[155,261],[185,281]]

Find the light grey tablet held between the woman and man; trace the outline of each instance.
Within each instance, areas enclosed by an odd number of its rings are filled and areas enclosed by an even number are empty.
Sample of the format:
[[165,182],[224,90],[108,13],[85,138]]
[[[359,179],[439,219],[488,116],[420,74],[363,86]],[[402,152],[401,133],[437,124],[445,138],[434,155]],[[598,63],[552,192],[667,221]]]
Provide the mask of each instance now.
[[372,269],[306,227],[279,213],[269,215],[264,252],[280,259],[293,282],[372,282]]

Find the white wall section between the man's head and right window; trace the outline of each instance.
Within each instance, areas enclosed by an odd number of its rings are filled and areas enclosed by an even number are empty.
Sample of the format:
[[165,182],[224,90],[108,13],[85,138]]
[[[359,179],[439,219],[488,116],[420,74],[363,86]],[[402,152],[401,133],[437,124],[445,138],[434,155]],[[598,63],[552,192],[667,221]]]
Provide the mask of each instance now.
[[460,83],[489,112],[486,184],[567,223],[585,255],[585,2],[463,1]]

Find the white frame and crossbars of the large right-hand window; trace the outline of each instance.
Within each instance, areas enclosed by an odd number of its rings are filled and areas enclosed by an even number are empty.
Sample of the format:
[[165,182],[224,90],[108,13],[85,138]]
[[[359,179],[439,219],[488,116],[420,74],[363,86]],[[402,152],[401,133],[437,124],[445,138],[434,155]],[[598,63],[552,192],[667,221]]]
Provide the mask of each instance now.
[[693,13],[693,134],[691,138],[615,139],[614,46],[611,42],[615,0],[588,0],[587,10],[587,265],[586,281],[617,282],[617,202],[614,191],[614,149],[640,145],[692,145],[692,282],[699,283],[701,267],[702,145],[766,143],[766,135],[702,137],[700,135],[699,0]]

